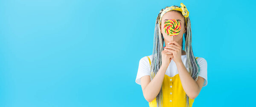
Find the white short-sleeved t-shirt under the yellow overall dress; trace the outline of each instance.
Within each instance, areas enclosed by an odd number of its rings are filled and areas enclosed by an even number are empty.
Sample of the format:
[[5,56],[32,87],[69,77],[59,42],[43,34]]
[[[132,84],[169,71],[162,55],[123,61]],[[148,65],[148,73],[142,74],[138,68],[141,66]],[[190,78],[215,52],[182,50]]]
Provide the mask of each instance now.
[[[152,55],[150,55],[148,57],[150,58],[150,61],[152,62]],[[150,65],[149,65],[148,57],[144,56],[143,58],[140,59],[137,77],[135,80],[135,82],[137,84],[140,84],[141,77],[146,76],[146,75],[150,76]],[[186,69],[189,70],[186,55],[181,55],[181,59],[182,59],[183,64],[185,65]],[[203,87],[204,87],[207,85],[207,61],[201,57],[198,57],[196,60],[200,67],[200,72],[199,72],[198,76],[201,76],[204,78],[204,85],[203,85]],[[170,77],[173,77],[176,74],[178,74],[177,66],[173,60],[170,62],[165,74]]]

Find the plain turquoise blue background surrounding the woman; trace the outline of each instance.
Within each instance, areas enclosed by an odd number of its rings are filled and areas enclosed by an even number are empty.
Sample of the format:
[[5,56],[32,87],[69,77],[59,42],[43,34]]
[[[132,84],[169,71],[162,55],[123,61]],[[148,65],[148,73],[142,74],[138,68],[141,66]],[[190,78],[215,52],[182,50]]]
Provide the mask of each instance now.
[[139,60],[159,11],[180,3],[208,64],[193,107],[253,105],[253,0],[0,0],[0,107],[147,107]]

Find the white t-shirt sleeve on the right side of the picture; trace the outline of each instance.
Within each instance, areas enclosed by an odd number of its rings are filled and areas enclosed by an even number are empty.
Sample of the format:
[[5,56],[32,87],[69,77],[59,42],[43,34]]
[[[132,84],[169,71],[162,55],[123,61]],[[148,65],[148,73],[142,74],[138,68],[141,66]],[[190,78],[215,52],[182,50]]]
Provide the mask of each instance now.
[[205,87],[207,85],[207,61],[204,58],[198,57],[197,62],[200,67],[198,76],[201,76],[204,78],[203,87]]

